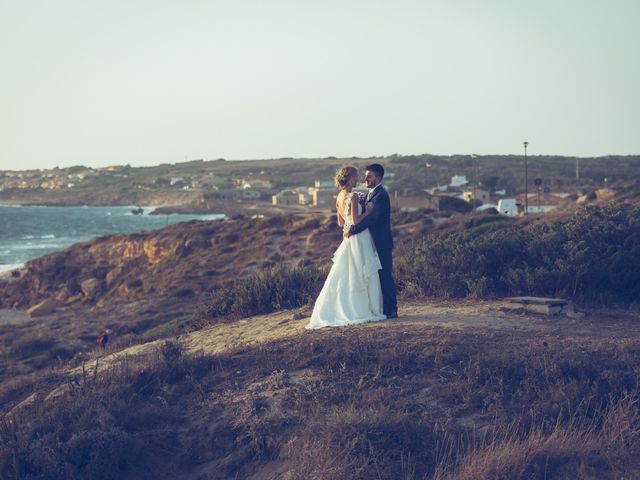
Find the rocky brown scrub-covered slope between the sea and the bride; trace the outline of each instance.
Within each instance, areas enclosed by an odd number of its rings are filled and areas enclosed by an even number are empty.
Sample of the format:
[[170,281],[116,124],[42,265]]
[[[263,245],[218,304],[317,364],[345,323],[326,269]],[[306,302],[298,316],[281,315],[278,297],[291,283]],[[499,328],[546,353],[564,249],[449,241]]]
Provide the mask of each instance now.
[[340,238],[333,216],[325,214],[192,221],[111,235],[37,258],[20,278],[0,280],[0,308],[27,308],[48,299],[56,306],[102,307],[178,298],[185,291],[198,295],[274,262],[327,261]]

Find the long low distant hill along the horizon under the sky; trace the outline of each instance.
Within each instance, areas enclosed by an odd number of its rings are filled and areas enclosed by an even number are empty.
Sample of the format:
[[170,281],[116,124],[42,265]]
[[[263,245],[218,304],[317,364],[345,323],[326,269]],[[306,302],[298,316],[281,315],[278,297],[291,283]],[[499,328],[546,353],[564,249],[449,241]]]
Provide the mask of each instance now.
[[[194,211],[225,212],[237,202],[220,197],[216,189],[236,186],[234,181],[260,178],[269,182],[262,202],[284,188],[311,186],[331,180],[341,165],[363,169],[382,163],[389,175],[385,184],[399,195],[421,194],[426,188],[448,184],[454,175],[488,190],[524,191],[524,159],[516,155],[388,155],[359,158],[281,158],[266,160],[191,161],[153,167],[113,166],[0,172],[0,202],[56,205],[171,205]],[[529,191],[535,179],[551,193],[583,193],[617,188],[640,179],[640,156],[594,158],[529,156]],[[210,205],[207,205],[207,202]],[[242,203],[242,202],[241,202]],[[256,202],[245,202],[253,203]]]

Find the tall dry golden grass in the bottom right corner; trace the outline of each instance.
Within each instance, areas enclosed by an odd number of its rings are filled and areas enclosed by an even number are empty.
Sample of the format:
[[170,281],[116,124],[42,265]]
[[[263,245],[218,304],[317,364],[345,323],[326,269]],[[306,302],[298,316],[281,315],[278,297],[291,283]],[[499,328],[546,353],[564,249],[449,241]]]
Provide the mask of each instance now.
[[[499,425],[490,435],[452,448],[436,466],[434,479],[595,480],[617,478],[616,464],[625,465],[623,470],[632,474],[631,452],[637,452],[640,435],[638,415],[637,400],[629,396],[608,405],[595,418],[576,416],[552,427],[540,421],[528,429]],[[459,456],[457,461],[452,461],[453,452]]]

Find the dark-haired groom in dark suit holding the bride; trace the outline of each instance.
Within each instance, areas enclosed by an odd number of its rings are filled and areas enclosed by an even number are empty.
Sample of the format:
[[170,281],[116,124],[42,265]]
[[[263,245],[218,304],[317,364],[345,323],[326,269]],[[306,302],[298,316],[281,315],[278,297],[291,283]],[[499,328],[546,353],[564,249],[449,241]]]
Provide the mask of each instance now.
[[363,207],[373,204],[373,210],[357,225],[345,230],[344,236],[356,235],[367,228],[373,237],[378,257],[382,264],[380,286],[382,287],[382,313],[387,318],[398,318],[398,303],[396,300],[396,284],[391,275],[393,270],[393,237],[391,235],[391,200],[389,194],[382,187],[384,168],[379,163],[367,165],[364,183],[369,194],[363,199]]

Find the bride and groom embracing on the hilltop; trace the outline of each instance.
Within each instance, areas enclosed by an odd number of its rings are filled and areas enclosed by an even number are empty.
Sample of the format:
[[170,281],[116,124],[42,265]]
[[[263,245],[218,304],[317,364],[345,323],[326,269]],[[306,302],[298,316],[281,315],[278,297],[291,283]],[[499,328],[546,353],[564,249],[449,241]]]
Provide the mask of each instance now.
[[369,189],[358,196],[358,170],[343,167],[336,175],[340,188],[336,207],[344,238],[333,254],[333,265],[318,295],[309,329],[397,318],[392,276],[391,201],[382,187],[384,168],[367,165]]

